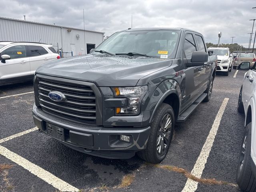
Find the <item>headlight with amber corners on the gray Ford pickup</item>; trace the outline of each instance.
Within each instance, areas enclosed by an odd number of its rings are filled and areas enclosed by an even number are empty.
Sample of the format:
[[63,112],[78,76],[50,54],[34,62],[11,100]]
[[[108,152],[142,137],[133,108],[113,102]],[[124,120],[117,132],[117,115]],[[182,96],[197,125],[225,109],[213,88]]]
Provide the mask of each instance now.
[[127,107],[117,107],[116,114],[118,115],[136,115],[139,112],[139,101],[142,96],[148,91],[148,86],[136,87],[113,87],[116,97],[126,97],[128,99]]

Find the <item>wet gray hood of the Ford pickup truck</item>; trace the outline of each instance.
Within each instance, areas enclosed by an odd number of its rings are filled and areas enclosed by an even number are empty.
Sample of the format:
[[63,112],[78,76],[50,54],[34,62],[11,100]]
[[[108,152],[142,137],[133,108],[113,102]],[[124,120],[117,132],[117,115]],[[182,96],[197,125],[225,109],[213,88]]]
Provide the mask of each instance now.
[[43,64],[36,74],[93,82],[98,86],[136,86],[140,78],[171,66],[160,58],[86,55]]

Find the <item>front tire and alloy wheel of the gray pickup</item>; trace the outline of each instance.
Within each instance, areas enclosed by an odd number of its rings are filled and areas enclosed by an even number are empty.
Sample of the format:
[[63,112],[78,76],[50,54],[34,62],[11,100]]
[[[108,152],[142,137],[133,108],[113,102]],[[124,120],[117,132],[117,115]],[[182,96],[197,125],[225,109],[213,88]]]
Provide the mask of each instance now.
[[[171,121],[168,128],[165,130],[162,124],[167,118],[170,118]],[[174,124],[175,116],[172,106],[162,103],[157,109],[154,120],[151,123],[147,147],[145,150],[137,152],[137,155],[150,163],[160,163],[164,160],[172,142]],[[164,150],[160,148],[160,145],[164,146]]]

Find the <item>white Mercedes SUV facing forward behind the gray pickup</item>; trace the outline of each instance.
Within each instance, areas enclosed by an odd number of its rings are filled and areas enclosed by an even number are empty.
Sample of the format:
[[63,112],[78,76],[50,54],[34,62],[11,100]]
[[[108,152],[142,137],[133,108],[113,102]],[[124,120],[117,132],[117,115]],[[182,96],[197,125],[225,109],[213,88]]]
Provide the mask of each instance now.
[[216,72],[222,71],[228,76],[232,70],[234,56],[230,53],[230,49],[224,47],[209,47],[207,50],[212,51],[218,57]]

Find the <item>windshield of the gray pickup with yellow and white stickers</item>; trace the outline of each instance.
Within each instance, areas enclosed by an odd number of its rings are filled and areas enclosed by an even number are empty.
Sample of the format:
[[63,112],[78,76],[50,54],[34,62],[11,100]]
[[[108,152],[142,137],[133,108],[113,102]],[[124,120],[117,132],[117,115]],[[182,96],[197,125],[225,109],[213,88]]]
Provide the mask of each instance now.
[[157,58],[174,58],[179,36],[180,31],[176,30],[117,32],[100,44],[93,54],[134,53]]

